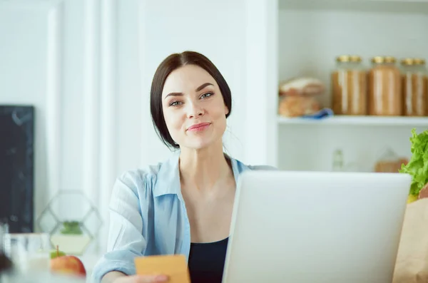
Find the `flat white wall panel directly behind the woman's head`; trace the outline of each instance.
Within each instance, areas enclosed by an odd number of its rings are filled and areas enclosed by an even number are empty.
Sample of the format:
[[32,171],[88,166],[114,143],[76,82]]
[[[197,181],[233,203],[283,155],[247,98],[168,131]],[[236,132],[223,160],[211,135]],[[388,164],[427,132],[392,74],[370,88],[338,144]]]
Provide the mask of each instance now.
[[[228,119],[225,147],[236,158],[243,158],[245,117],[245,13],[243,1],[146,1],[141,9],[141,66],[143,107],[148,109],[151,78],[159,63],[170,53],[193,50],[204,53],[223,73],[233,96],[232,114]],[[239,107],[241,106],[241,107]],[[154,135],[147,111],[142,120],[150,133],[147,143],[158,154],[144,150],[144,162],[165,158],[168,150]],[[148,149],[148,148],[147,148]]]

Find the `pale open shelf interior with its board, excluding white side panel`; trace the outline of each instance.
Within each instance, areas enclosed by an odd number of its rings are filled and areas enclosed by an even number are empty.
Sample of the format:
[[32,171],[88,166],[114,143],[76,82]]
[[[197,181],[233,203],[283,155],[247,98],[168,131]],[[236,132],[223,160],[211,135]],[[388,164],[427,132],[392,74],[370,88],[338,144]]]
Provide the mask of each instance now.
[[[302,1],[278,3],[278,76],[324,81],[321,102],[329,107],[330,72],[341,54],[428,58],[428,1]],[[333,116],[322,120],[277,119],[277,165],[288,170],[331,170],[342,149],[355,170],[372,170],[390,148],[410,157],[410,130],[427,118]]]

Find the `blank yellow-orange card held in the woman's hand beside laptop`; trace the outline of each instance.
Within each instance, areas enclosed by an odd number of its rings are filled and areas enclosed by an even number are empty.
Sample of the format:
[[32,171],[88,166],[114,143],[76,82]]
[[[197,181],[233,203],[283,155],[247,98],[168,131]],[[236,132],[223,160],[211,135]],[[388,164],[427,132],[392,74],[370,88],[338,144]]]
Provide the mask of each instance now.
[[136,257],[134,262],[138,275],[164,274],[169,277],[168,283],[190,283],[188,265],[183,254]]

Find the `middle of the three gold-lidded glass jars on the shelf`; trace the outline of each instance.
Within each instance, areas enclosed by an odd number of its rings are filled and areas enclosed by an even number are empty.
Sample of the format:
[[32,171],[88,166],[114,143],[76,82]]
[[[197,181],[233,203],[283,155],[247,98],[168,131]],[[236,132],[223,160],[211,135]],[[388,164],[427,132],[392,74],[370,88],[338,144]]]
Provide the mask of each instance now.
[[368,72],[368,108],[370,115],[402,115],[401,73],[392,56],[372,58]]

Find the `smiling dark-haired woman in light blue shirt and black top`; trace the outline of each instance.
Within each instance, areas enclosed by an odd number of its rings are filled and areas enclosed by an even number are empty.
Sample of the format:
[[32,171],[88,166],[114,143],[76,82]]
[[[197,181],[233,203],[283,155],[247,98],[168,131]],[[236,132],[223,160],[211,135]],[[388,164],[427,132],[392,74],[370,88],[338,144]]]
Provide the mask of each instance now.
[[135,275],[133,259],[155,254],[184,254],[192,283],[221,282],[239,175],[267,169],[223,153],[231,110],[228,83],[202,54],[175,53],[160,64],[151,115],[175,153],[116,181],[108,252],[94,268],[95,282],[168,282],[170,274]]

